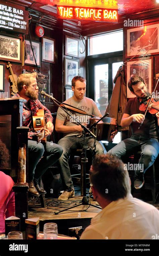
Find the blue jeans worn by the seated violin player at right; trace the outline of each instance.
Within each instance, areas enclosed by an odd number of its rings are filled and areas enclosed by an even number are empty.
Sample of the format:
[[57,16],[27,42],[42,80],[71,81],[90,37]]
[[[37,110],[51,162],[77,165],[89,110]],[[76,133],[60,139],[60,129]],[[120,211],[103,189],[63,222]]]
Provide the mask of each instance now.
[[[108,154],[116,155],[120,158],[125,155],[141,150],[139,164],[143,164],[143,173],[154,163],[159,154],[159,142],[157,139],[146,138],[145,136],[131,136],[118,143],[114,148],[108,151]],[[140,177],[139,168],[135,169],[136,177]]]

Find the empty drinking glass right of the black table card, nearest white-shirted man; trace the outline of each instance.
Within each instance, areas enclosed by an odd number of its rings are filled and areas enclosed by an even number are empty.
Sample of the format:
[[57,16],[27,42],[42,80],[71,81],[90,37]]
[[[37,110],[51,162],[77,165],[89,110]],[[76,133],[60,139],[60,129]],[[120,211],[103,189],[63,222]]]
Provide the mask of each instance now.
[[44,224],[44,239],[57,239],[58,229],[56,223]]

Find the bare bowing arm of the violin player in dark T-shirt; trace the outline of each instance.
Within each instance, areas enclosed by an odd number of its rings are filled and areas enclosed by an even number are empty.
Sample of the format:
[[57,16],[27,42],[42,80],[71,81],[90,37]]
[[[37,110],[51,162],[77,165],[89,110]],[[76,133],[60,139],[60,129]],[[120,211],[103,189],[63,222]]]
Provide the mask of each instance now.
[[134,114],[131,116],[128,114],[123,114],[123,117],[121,119],[121,126],[129,126],[133,121],[141,124],[144,121],[144,119],[145,117],[143,114]]

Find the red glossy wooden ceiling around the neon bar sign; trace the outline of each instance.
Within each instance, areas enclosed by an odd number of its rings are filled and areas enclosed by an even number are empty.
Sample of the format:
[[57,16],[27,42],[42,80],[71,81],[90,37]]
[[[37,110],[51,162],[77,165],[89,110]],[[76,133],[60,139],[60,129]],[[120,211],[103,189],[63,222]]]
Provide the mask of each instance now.
[[[10,0],[8,2],[15,3],[15,1]],[[64,20],[63,28],[68,30],[74,30],[82,33],[83,35],[90,34],[90,31],[98,33],[98,28],[103,27],[113,27],[120,28],[123,20],[132,19],[133,15],[135,17],[136,13],[141,14],[141,19],[144,17],[144,13],[149,12],[150,18],[156,17],[156,13],[159,14],[159,3],[156,0],[118,0],[118,24],[106,23],[106,22],[93,22],[93,21],[81,21],[81,26],[78,26],[78,21]],[[40,25],[54,30],[58,27],[58,20],[56,18],[57,7],[53,4],[53,0],[16,0],[16,4],[25,6],[29,8],[30,15],[33,22],[38,22],[40,20]],[[151,12],[150,12],[151,10]],[[158,15],[159,16],[159,15]],[[97,26],[98,25],[98,26]]]

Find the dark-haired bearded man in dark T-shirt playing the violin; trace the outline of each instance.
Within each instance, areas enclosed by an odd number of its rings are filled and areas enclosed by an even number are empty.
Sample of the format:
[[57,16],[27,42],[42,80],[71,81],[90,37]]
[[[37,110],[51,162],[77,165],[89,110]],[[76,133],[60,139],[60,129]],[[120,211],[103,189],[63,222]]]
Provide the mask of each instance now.
[[108,154],[122,158],[126,154],[130,155],[141,150],[139,165],[135,168],[134,181],[134,187],[140,189],[144,185],[143,174],[153,165],[159,154],[159,111],[156,111],[156,115],[149,112],[144,115],[145,112],[139,109],[140,105],[147,101],[150,96],[142,77],[131,76],[128,81],[128,88],[136,97],[127,102],[121,119],[121,126],[131,125],[132,135],[130,138],[120,141],[118,145],[108,151]]

